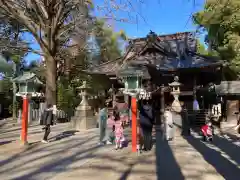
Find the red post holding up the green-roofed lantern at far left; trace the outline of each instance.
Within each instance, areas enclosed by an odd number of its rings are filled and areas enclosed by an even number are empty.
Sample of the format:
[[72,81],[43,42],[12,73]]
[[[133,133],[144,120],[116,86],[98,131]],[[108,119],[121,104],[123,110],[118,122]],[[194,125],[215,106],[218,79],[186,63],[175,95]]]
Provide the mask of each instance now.
[[28,143],[27,128],[28,128],[28,98],[27,96],[23,96],[21,141],[24,145]]

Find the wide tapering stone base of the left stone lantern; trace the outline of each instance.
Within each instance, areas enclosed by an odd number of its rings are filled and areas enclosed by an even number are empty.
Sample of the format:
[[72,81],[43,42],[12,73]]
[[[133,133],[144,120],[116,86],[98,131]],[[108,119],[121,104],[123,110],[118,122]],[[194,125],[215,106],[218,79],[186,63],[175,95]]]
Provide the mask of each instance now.
[[75,116],[71,120],[72,127],[76,130],[87,130],[97,127],[97,118],[91,108],[78,107]]

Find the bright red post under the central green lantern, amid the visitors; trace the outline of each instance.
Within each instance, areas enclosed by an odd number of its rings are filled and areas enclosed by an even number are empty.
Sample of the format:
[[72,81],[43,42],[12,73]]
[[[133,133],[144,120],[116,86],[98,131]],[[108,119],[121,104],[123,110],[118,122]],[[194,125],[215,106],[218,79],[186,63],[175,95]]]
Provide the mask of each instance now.
[[132,152],[137,152],[137,99],[132,97]]

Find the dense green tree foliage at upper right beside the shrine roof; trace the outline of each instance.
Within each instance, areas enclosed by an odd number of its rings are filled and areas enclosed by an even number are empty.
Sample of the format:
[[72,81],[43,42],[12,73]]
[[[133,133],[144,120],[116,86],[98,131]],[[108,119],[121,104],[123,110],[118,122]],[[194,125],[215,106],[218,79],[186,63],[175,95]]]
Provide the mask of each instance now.
[[206,43],[221,59],[240,70],[240,1],[207,0],[204,10],[193,16],[194,22],[207,32]]

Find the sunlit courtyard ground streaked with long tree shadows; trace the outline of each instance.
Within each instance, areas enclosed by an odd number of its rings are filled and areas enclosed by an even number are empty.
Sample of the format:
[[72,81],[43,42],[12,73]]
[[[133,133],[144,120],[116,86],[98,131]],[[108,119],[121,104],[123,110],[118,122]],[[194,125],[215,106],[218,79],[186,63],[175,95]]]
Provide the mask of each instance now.
[[[98,146],[98,129],[66,131],[68,123],[53,127],[51,142],[42,144],[41,127],[29,128],[28,148],[18,144],[19,128],[1,130],[0,179],[2,180],[238,180],[239,146],[236,136],[216,136],[212,144],[197,135],[173,142],[161,138],[151,152],[137,155],[131,145],[116,151]],[[226,131],[226,134],[228,132]]]

